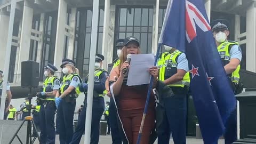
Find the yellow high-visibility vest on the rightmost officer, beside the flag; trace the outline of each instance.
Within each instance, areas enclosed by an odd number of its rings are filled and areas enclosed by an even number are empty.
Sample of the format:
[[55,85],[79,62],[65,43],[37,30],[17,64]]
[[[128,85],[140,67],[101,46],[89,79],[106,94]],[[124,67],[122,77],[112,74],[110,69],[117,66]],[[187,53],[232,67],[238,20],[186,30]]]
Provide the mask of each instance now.
[[[222,61],[222,65],[226,66],[230,62],[230,49],[233,45],[238,45],[238,42],[223,42],[218,46],[218,52]],[[236,70],[230,75],[231,81],[233,83],[238,83],[239,82],[239,70],[240,70],[240,65],[236,68]]]

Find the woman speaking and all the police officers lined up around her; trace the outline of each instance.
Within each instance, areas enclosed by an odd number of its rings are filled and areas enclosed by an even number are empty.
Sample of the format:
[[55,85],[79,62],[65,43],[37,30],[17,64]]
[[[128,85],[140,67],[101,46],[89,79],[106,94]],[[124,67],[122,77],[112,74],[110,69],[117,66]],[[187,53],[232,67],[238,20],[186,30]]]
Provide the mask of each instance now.
[[[238,89],[239,68],[242,52],[237,42],[228,41],[229,22],[223,19],[211,23],[213,37],[222,60],[230,86],[234,93]],[[108,123],[108,134],[111,132],[114,144],[137,143],[140,130],[143,109],[147,98],[148,84],[127,86],[130,63],[126,61],[127,54],[140,54],[140,42],[135,37],[127,37],[116,40],[118,58],[114,60],[113,68],[108,72],[102,68],[105,57],[96,54],[94,66],[93,95],[88,95],[88,76],[82,79],[76,68],[76,63],[70,59],[63,59],[63,77],[54,76],[58,68],[51,63],[44,68],[46,77],[43,88],[38,92],[37,104],[33,105],[34,117],[38,116],[38,124],[41,130],[41,143],[55,143],[54,116],[57,110],[56,129],[59,133],[61,144],[77,144],[84,133],[87,97],[93,97],[91,142],[99,143],[100,119],[102,114]],[[186,114],[187,97],[189,92],[190,75],[186,54],[174,47],[164,46],[166,52],[157,58],[157,66],[148,69],[148,73],[154,77],[148,104],[148,112],[143,125],[141,144],[154,143],[158,137],[158,143],[167,144],[172,134],[175,144],[186,143]],[[0,71],[2,79],[3,71]],[[0,81],[2,84],[2,80]],[[9,86],[9,85],[7,85]],[[7,106],[10,105],[10,86],[7,89]],[[2,93],[2,92],[1,92]],[[76,107],[76,98],[84,93],[84,103],[79,109],[78,122],[73,131],[73,117]],[[107,95],[110,101],[105,107],[103,97]],[[157,101],[155,101],[157,99]],[[22,117],[27,114],[26,105],[21,106]],[[14,119],[15,108],[10,105],[8,119]],[[24,116],[23,116],[24,115]],[[35,119],[35,118],[34,118]],[[225,143],[234,142],[236,134],[236,110],[226,123],[224,134]],[[111,128],[111,130],[110,130]]]

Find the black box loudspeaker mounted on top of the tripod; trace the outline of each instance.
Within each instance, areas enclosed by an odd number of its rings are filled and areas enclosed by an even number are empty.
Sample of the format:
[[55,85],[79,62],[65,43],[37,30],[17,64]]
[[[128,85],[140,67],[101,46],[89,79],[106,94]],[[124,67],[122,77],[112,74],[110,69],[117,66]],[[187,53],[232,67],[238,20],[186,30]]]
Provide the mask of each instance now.
[[21,87],[37,87],[39,85],[39,63],[35,61],[21,62]]

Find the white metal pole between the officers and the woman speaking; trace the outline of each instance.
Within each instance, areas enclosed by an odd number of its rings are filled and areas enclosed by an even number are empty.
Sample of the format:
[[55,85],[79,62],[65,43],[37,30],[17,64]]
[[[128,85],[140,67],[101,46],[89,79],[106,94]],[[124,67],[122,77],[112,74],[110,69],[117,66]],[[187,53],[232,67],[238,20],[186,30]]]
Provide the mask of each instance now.
[[93,87],[94,87],[94,64],[95,64],[95,54],[96,54],[96,46],[97,46],[97,38],[98,38],[98,19],[99,19],[99,0],[93,0],[89,83],[88,83],[88,92],[87,92],[87,107],[86,107],[85,132],[84,132],[85,144],[88,144],[91,141],[92,98],[93,98]]

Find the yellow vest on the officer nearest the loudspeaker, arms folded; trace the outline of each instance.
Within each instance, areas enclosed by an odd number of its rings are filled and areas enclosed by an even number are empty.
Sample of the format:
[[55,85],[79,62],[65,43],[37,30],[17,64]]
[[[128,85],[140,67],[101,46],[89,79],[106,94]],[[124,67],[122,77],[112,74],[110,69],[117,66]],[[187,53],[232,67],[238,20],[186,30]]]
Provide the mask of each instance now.
[[[43,92],[52,92],[54,87],[54,81],[57,79],[55,76],[47,77],[43,83]],[[55,97],[46,97],[43,100],[53,100],[55,101]]]

